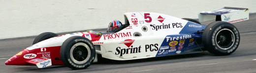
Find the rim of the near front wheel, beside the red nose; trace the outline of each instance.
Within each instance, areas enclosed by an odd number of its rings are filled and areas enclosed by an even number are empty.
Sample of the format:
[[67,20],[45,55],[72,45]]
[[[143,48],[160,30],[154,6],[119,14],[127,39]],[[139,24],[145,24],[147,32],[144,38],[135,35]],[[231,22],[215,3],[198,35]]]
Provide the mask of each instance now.
[[90,56],[90,47],[85,43],[76,43],[70,49],[70,58],[76,64],[84,64],[89,60]]

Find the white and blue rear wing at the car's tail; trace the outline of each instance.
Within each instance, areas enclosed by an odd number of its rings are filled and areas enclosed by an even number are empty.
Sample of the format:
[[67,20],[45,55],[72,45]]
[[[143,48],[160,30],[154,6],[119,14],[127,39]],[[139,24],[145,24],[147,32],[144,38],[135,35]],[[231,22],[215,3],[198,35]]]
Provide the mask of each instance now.
[[210,11],[203,11],[198,14],[200,22],[216,20],[229,23],[244,21],[249,19],[248,8],[224,7]]

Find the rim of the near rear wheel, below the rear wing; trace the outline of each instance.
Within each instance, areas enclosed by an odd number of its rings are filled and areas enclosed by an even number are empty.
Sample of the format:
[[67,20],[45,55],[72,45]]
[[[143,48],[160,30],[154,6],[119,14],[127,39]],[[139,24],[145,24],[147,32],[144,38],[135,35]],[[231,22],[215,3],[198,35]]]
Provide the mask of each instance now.
[[217,46],[223,50],[227,50],[234,45],[234,33],[229,29],[222,29],[218,31],[215,36]]

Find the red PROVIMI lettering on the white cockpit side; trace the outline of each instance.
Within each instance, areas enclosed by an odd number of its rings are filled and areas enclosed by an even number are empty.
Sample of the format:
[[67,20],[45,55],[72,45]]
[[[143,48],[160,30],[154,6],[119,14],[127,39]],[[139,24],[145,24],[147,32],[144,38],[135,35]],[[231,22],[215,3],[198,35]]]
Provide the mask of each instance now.
[[115,33],[115,34],[106,34],[103,35],[104,39],[112,39],[112,38],[119,38],[119,37],[130,37],[130,32],[127,33]]

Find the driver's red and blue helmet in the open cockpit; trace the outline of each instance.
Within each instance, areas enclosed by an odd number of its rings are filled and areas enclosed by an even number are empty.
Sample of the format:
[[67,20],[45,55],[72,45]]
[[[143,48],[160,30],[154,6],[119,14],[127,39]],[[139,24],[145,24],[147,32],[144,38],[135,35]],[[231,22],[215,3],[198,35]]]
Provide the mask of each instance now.
[[122,26],[122,23],[119,20],[113,20],[109,23],[107,32],[114,32],[115,29]]

